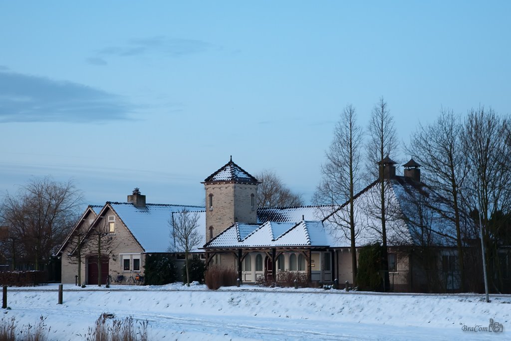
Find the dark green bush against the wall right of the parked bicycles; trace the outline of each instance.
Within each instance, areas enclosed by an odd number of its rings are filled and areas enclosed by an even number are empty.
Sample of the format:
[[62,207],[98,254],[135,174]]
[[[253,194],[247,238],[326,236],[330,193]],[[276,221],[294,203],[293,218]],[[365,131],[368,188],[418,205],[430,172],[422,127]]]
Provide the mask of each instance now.
[[163,285],[176,281],[176,266],[167,254],[154,254],[146,257],[144,265],[145,285]]

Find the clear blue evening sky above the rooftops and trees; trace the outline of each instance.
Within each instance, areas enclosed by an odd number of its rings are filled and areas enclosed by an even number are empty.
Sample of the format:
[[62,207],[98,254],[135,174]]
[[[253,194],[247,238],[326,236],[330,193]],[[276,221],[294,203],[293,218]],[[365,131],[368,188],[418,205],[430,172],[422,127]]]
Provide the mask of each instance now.
[[148,202],[203,204],[200,181],[233,155],[308,201],[347,103],[365,127],[383,96],[403,143],[442,106],[509,115],[509,13],[504,1],[0,1],[0,189],[51,174],[91,203],[140,187]]

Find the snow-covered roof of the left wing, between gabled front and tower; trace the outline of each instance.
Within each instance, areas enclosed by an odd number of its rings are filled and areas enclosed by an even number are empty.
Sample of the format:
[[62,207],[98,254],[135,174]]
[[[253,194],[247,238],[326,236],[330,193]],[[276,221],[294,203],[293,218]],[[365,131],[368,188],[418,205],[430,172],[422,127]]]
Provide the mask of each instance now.
[[[187,211],[203,211],[200,206],[183,206],[171,204],[147,203],[145,208],[137,208],[130,202],[108,202],[131,231],[145,252],[167,252],[173,240],[170,237],[169,219],[172,213]],[[199,230],[205,234],[205,213],[199,212]],[[201,246],[201,245],[199,245]],[[198,250],[197,250],[198,251]]]

